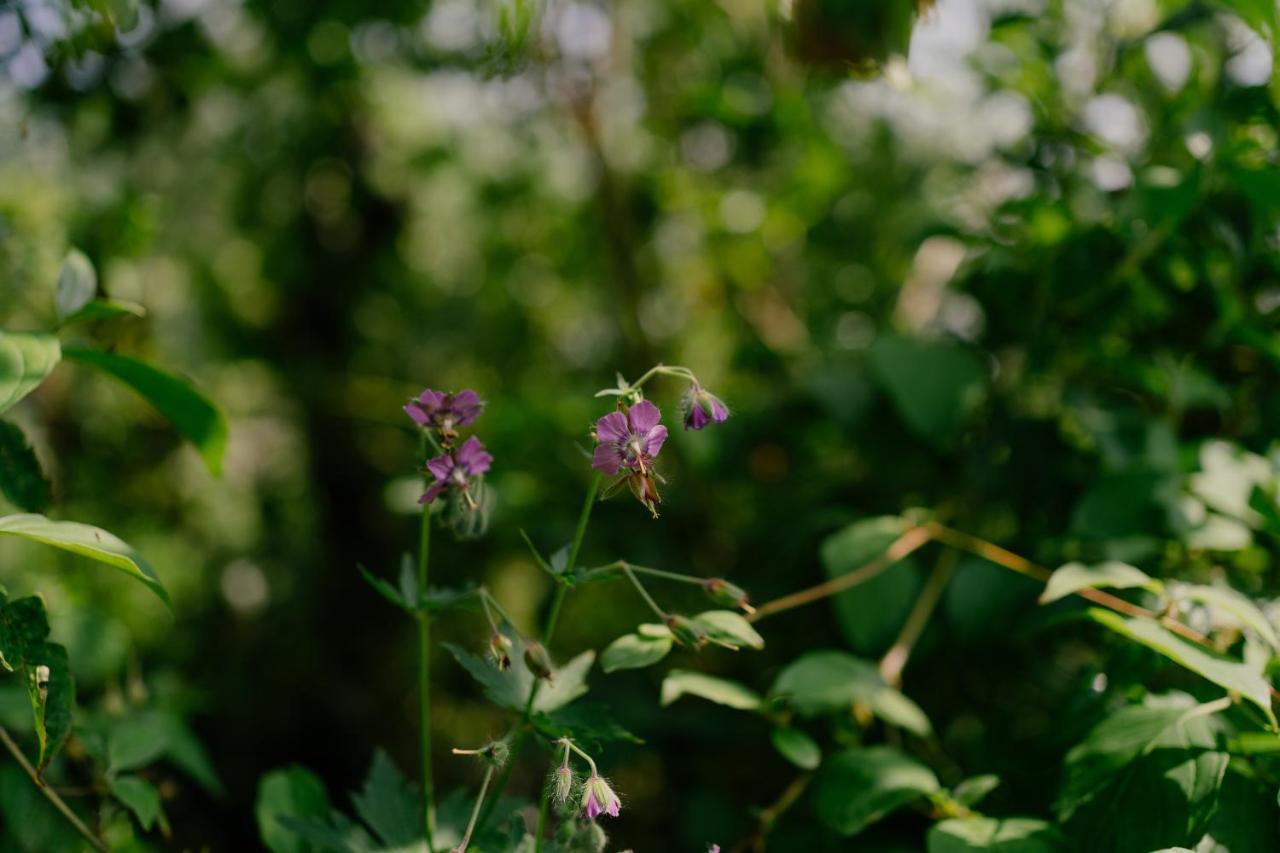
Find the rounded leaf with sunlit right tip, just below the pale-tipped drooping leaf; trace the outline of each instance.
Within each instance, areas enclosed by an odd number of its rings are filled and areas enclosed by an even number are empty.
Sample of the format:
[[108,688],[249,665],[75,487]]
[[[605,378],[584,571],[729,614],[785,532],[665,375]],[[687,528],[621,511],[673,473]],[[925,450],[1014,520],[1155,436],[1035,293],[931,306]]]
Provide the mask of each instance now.
[[818,820],[855,835],[893,809],[938,793],[933,771],[890,747],[850,748],[827,758],[814,781]]

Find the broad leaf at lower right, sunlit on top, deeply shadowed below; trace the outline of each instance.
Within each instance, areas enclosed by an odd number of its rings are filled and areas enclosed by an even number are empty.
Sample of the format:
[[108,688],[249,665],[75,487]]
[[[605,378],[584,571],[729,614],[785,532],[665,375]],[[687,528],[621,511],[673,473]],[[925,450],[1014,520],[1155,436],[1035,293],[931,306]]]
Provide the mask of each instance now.
[[1080,849],[1157,850],[1204,834],[1229,761],[1208,711],[1185,698],[1130,706],[1068,753],[1057,811]]

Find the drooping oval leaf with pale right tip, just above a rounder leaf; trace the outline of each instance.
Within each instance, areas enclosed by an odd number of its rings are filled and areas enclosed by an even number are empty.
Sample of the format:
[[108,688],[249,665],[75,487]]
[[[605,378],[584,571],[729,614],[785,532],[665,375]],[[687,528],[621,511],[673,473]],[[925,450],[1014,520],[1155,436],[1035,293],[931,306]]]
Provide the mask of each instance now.
[[874,663],[845,652],[809,652],[778,674],[769,695],[786,699],[805,717],[849,711],[856,702],[922,738],[932,731],[924,711],[886,684]]

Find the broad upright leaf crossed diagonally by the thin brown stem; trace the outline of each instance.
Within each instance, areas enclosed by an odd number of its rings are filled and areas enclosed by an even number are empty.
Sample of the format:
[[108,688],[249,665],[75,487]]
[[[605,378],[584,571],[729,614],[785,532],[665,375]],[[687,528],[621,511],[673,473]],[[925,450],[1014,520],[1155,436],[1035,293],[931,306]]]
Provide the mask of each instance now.
[[[840,578],[865,566],[908,529],[897,516],[855,521],[822,543],[822,566],[828,578]],[[919,597],[924,578],[908,557],[876,578],[832,598],[840,628],[859,654],[883,654]]]

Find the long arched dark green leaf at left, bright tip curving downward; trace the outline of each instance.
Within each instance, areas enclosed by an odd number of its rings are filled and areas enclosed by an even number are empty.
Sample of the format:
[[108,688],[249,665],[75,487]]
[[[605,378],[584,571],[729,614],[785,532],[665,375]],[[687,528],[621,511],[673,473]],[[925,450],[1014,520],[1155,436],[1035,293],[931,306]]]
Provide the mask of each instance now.
[[73,361],[97,368],[129,386],[196,446],[212,474],[221,471],[227,450],[227,418],[184,379],[137,359],[90,347],[67,347]]

